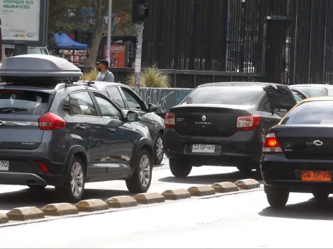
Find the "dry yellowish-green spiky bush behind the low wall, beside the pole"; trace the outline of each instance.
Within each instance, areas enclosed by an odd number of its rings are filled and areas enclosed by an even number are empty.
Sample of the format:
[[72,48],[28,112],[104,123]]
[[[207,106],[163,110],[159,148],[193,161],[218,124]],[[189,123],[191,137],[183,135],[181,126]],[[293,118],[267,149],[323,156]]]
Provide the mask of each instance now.
[[[134,74],[130,74],[126,78],[126,84],[134,88],[135,77]],[[168,74],[164,74],[157,65],[147,67],[140,75],[140,87],[150,88],[169,88],[170,77]]]

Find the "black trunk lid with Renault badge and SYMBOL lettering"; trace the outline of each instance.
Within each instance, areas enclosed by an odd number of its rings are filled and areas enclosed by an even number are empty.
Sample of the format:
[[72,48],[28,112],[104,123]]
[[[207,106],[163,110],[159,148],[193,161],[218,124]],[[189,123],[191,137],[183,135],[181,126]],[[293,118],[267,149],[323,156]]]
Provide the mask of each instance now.
[[175,115],[176,132],[202,137],[230,137],[236,132],[237,117],[249,115],[247,105],[177,105],[170,112]]

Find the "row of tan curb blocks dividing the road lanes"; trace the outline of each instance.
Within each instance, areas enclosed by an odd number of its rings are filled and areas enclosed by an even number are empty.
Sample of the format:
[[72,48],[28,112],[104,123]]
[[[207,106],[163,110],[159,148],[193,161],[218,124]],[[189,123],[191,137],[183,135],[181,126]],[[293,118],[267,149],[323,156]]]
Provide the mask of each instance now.
[[[86,199],[73,205],[69,203],[47,204],[42,209],[37,207],[18,207],[11,209],[7,214],[0,213],[0,227],[17,226],[36,222],[49,221],[67,217],[86,216],[90,214],[104,214],[106,212],[122,211],[129,208],[151,207],[152,204],[167,204],[175,201],[191,199],[210,199],[223,195],[241,194],[261,190],[260,183],[254,179],[238,180],[235,184],[230,182],[215,183],[190,187],[188,190],[166,190],[159,194],[147,192],[130,196],[111,197],[102,199]],[[170,202],[165,202],[169,200]],[[19,222],[21,221],[21,222]]]

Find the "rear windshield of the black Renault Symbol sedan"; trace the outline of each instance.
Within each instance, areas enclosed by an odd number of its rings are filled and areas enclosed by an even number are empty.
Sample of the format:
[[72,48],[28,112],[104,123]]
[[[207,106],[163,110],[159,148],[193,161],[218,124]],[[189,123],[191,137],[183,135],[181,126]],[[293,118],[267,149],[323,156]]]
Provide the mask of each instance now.
[[196,88],[186,104],[254,105],[263,91],[254,87],[207,86]]

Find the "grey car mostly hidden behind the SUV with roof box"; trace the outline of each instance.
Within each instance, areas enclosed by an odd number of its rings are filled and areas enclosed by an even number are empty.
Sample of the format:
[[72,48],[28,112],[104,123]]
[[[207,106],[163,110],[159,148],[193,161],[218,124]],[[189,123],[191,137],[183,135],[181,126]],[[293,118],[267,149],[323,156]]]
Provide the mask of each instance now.
[[165,127],[162,117],[155,113],[157,106],[151,103],[147,105],[135,91],[132,91],[132,88],[122,83],[94,82],[93,87],[108,95],[111,100],[120,106],[123,112],[135,110],[139,113],[139,122],[148,127],[150,137],[154,141],[154,164],[162,163],[164,156],[162,138]]

